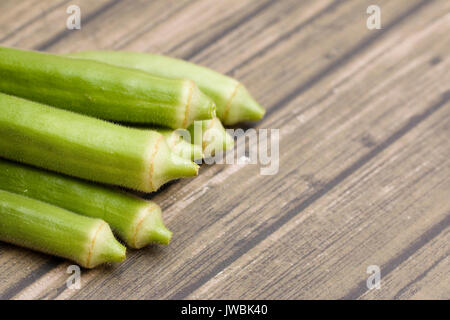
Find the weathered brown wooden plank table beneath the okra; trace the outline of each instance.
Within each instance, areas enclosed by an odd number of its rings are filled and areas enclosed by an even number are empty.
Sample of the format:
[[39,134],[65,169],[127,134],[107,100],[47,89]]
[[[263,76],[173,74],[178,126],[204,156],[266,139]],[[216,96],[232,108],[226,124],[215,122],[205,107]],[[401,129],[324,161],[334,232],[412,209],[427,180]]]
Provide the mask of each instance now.
[[267,108],[254,128],[280,130],[280,167],[204,165],[150,195],[173,242],[83,270],[80,290],[70,263],[0,244],[0,298],[449,299],[449,31],[446,0],[1,1],[4,46],[157,52],[240,79]]

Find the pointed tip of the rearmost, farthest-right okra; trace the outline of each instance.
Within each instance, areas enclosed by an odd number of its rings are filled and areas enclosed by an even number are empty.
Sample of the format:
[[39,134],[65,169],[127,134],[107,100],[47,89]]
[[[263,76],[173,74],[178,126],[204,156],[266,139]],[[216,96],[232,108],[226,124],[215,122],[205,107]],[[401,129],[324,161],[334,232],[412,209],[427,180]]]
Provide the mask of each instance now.
[[243,85],[240,85],[231,98],[222,120],[226,125],[243,121],[259,121],[265,113],[266,110],[261,107]]

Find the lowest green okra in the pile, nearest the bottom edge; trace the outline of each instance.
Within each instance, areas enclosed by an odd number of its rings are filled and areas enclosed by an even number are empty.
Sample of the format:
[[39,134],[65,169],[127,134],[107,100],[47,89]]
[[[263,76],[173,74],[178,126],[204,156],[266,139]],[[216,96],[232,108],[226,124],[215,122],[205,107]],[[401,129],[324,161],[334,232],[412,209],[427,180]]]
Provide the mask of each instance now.
[[85,268],[125,259],[101,219],[0,190],[0,240],[75,261]]

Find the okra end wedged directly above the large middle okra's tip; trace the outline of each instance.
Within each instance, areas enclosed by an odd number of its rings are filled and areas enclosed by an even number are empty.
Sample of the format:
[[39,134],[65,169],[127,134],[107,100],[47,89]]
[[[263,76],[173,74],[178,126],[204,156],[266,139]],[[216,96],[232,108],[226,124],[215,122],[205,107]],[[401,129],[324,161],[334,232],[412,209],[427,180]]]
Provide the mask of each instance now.
[[[152,130],[159,132],[164,136],[164,138],[166,138],[166,142],[169,145],[169,148],[176,155],[185,159],[191,159],[192,161],[203,158],[203,151],[201,146],[192,144],[183,139],[183,132],[180,131],[185,129],[172,130],[164,128],[153,128]],[[189,131],[186,132],[189,133]]]

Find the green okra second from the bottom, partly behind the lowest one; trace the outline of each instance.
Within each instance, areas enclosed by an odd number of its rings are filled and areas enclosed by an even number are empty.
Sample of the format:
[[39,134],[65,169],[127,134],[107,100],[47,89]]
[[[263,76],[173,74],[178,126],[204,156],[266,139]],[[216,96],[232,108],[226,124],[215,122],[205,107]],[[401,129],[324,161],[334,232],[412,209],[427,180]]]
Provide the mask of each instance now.
[[151,242],[168,244],[172,237],[156,203],[120,190],[2,159],[0,189],[103,219],[135,249]]

